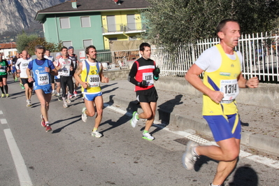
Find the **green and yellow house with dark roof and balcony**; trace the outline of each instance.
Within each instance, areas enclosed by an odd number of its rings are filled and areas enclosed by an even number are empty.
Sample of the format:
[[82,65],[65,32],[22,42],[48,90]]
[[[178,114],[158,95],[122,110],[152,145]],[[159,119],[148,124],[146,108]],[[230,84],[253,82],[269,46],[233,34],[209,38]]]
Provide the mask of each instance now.
[[88,45],[108,50],[110,41],[139,39],[146,30],[139,10],[148,6],[145,0],[72,0],[39,10],[35,20],[43,24],[50,43],[62,42],[76,50]]

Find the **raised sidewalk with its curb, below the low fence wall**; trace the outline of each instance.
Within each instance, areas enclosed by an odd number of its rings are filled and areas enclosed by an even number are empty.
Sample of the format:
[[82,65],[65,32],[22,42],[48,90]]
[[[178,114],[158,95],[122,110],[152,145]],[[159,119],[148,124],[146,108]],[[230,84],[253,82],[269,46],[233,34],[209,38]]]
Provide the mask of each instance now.
[[[110,102],[133,112],[141,107],[137,104],[134,85],[127,80],[110,80],[101,84],[104,103]],[[156,87],[156,84],[155,84]],[[195,130],[212,138],[211,131],[201,115],[202,97],[191,94],[157,89],[157,113],[155,120],[173,131]],[[279,110],[238,103],[242,122],[241,143],[250,148],[279,155]]]

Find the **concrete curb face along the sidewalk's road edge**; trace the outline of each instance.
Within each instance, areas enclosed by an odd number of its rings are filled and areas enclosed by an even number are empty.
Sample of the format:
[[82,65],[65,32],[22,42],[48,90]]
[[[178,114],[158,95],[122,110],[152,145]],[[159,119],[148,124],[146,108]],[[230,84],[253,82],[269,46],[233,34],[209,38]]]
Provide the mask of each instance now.
[[[138,105],[138,101],[129,101],[115,95],[103,94],[103,102],[116,104],[117,106],[126,108],[126,110],[131,113],[133,111],[142,111],[141,106]],[[169,129],[174,131],[193,129],[199,132],[199,134],[212,137],[210,128],[205,120],[196,120],[196,118],[189,118],[185,115],[170,113],[168,110],[162,108],[157,108],[155,120],[161,120],[163,124],[165,123]],[[257,150],[264,150],[264,152],[270,152],[273,155],[279,155],[278,138],[243,131],[241,133],[241,144]]]

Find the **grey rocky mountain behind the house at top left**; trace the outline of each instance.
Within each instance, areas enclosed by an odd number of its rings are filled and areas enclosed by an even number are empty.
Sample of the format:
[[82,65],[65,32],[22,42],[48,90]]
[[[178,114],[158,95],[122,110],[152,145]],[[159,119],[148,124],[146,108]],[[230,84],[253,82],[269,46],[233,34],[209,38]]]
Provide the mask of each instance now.
[[22,30],[43,36],[43,25],[34,20],[38,10],[66,0],[0,0],[0,41],[15,38]]

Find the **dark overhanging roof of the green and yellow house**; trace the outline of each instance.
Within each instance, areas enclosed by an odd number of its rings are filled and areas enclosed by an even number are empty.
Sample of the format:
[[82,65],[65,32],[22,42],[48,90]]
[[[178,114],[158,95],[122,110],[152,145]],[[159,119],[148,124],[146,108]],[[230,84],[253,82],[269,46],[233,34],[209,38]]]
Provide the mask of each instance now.
[[38,10],[35,20],[43,20],[46,14],[136,10],[148,8],[150,6],[150,3],[146,0],[122,0],[117,3],[115,3],[114,0],[77,0],[76,8],[73,8],[72,3],[74,2],[66,1],[56,6]]

